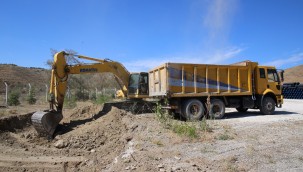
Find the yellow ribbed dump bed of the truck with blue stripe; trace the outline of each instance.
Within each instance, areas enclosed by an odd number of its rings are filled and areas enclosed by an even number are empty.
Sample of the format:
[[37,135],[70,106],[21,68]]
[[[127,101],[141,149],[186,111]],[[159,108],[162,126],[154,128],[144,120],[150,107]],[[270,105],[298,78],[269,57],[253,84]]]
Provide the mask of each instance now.
[[233,65],[165,63],[149,71],[149,95],[171,97],[252,94],[255,62]]

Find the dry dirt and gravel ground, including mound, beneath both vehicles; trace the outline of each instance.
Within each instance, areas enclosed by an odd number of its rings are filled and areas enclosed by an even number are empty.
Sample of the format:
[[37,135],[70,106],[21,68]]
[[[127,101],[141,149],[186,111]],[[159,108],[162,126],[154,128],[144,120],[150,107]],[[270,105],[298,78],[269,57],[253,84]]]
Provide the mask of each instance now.
[[0,131],[0,171],[303,171],[302,105],[285,100],[275,115],[227,109],[197,138],[176,134],[152,113],[91,103],[66,110],[51,141],[20,115],[1,117],[9,131]]

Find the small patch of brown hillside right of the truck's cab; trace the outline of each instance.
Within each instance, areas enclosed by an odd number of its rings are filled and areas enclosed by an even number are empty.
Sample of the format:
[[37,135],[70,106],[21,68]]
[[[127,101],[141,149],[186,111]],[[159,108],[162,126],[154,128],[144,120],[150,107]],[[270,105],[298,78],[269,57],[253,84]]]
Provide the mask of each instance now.
[[286,82],[300,82],[303,83],[303,65],[288,68],[284,72]]

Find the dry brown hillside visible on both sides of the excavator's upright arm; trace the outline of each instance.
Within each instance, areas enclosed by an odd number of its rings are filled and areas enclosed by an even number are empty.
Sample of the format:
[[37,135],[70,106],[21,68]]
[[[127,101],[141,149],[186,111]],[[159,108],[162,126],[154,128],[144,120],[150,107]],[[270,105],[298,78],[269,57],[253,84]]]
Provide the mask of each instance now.
[[[9,85],[9,89],[18,88],[21,93],[27,94],[28,83],[35,88],[36,94],[45,95],[45,84],[49,85],[50,70],[34,67],[20,67],[14,64],[0,64],[0,95],[5,93],[4,81]],[[70,75],[68,77],[71,89],[86,89],[95,92],[104,88],[119,88],[114,76],[109,73],[87,75]],[[0,96],[1,97],[1,96]],[[1,99],[1,98],[0,98]],[[1,102],[1,100],[0,100]]]

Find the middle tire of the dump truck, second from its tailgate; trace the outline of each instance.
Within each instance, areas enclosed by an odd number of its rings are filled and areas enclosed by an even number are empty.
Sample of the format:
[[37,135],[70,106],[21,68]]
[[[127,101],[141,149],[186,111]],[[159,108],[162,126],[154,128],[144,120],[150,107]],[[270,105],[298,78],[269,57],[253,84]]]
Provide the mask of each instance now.
[[225,114],[225,104],[220,99],[210,101],[209,116],[213,119],[221,119]]

